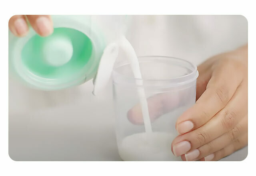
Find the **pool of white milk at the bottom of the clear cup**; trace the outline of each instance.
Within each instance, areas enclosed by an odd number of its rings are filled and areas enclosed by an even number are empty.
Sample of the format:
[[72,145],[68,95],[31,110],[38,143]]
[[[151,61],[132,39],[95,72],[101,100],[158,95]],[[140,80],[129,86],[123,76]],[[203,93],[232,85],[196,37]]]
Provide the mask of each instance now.
[[171,151],[174,137],[165,132],[132,134],[120,142],[118,152],[125,161],[181,161]]

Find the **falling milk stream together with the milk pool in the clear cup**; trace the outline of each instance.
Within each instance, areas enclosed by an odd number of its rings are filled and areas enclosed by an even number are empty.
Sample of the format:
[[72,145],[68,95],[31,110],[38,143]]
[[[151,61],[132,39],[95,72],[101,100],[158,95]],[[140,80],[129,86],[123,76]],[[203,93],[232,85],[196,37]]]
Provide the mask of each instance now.
[[142,81],[138,58],[134,48],[125,38],[120,39],[120,46],[127,55],[130,61],[131,69],[138,86],[137,92],[142,108],[144,120],[144,133],[132,134],[124,137],[118,144],[119,155],[126,161],[172,161],[181,160],[180,157],[175,157],[171,152],[171,143],[175,138],[174,135],[167,132],[152,132],[150,116],[148,111],[148,102]]

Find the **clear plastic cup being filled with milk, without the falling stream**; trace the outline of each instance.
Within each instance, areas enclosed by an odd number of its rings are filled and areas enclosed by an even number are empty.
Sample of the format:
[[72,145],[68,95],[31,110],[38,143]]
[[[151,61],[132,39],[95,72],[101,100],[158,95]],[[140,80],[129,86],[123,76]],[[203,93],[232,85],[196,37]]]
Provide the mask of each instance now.
[[[128,60],[112,72],[116,138],[122,160],[176,161],[171,152],[178,135],[177,118],[196,100],[196,65],[165,56],[138,57],[142,80],[135,79]],[[142,84],[138,84],[138,82]],[[146,133],[138,90],[144,89],[152,132]]]

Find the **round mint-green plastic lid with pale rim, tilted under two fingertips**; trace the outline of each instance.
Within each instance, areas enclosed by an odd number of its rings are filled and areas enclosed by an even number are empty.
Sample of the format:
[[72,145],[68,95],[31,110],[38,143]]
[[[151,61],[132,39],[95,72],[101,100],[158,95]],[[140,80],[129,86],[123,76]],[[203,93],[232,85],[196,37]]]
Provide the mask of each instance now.
[[58,90],[95,77],[105,48],[100,30],[91,21],[53,17],[54,32],[41,37],[30,28],[26,37],[9,33],[9,65],[28,86]]

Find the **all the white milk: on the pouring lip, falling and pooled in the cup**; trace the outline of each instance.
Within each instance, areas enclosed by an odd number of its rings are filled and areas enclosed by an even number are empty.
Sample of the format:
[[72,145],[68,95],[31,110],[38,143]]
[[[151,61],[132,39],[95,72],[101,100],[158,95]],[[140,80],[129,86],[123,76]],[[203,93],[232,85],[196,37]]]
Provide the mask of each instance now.
[[[113,47],[112,47],[113,45]],[[142,108],[145,132],[132,134],[124,137],[118,142],[118,150],[123,160],[177,160],[171,152],[171,142],[175,136],[166,132],[152,132],[150,116],[148,111],[148,102],[143,86],[142,74],[138,58],[130,42],[121,36],[118,40],[119,48],[122,48],[136,79],[137,92]],[[106,74],[110,73],[117,57],[117,46],[114,44],[105,48],[98,68],[96,82],[94,84],[94,94],[97,87],[103,87],[107,82]],[[111,64],[110,64],[111,63]]]

